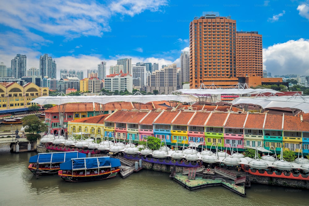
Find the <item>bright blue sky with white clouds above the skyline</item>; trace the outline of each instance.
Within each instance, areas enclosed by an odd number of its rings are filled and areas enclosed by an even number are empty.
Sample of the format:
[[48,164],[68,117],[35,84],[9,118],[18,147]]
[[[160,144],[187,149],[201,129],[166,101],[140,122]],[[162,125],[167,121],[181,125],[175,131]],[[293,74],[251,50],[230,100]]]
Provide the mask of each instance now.
[[[205,12],[236,20],[237,31],[263,35],[264,68],[272,74],[309,75],[309,1],[58,1],[0,2],[0,62],[17,53],[27,68],[47,53],[57,70],[97,68],[119,58],[179,64],[188,50],[189,23]],[[57,72],[59,76],[59,72]]]

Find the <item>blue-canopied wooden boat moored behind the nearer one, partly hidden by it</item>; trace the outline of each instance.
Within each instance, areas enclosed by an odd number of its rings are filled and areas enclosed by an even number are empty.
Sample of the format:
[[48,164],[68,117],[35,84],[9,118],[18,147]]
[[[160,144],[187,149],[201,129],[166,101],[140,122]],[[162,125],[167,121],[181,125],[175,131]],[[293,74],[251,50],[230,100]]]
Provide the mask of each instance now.
[[31,164],[28,166],[28,169],[36,175],[49,175],[60,170],[60,163],[69,161],[72,158],[81,157],[86,157],[86,154],[78,151],[39,153],[30,157],[29,163]]

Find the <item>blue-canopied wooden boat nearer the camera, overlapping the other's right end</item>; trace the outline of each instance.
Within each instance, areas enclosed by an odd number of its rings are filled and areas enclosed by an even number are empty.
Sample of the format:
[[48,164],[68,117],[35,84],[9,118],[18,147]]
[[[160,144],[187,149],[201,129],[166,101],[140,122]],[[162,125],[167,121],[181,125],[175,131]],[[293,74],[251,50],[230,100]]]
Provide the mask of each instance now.
[[69,182],[83,182],[115,177],[120,160],[112,157],[75,158],[60,164],[58,176]]

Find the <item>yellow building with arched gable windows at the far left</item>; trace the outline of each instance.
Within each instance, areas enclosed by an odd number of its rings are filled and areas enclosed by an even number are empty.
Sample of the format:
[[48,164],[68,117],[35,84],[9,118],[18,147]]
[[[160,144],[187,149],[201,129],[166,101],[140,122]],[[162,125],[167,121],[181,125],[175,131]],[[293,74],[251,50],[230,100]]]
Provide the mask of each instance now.
[[16,82],[1,82],[0,95],[0,113],[11,113],[28,110],[28,106],[35,104],[30,101],[48,96],[49,91],[33,83],[20,85]]

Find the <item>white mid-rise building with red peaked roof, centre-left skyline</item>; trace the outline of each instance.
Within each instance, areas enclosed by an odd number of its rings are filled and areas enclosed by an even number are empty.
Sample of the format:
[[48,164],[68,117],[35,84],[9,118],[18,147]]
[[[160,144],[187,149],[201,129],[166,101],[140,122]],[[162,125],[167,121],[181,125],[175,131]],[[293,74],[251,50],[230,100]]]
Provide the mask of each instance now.
[[119,74],[107,75],[104,79],[104,89],[110,92],[114,92],[116,90],[120,92],[125,91],[125,89],[129,92],[132,92],[132,75],[128,73],[123,73],[122,71],[120,71]]

